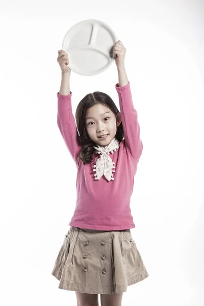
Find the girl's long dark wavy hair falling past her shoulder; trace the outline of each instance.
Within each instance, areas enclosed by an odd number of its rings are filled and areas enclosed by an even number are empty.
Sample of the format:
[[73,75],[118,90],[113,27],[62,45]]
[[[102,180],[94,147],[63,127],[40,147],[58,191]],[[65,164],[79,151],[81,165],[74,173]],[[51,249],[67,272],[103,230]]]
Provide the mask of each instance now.
[[[80,101],[75,112],[77,129],[80,134],[77,135],[77,141],[79,145],[82,146],[77,159],[78,161],[82,160],[84,165],[93,162],[94,158],[96,157],[96,153],[94,153],[95,149],[93,147],[96,146],[96,143],[91,140],[85,128],[86,111],[90,107],[99,103],[108,107],[115,114],[115,116],[119,113],[119,110],[117,109],[112,98],[108,94],[101,91],[88,93]],[[120,142],[122,141],[123,137],[124,131],[121,122],[119,126],[117,126],[115,138]]]

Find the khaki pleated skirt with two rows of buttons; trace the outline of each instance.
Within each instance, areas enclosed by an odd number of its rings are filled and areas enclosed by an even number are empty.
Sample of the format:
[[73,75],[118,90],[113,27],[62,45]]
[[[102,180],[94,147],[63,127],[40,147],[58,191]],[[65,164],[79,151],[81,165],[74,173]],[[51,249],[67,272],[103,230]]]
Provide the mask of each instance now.
[[98,231],[71,226],[52,271],[58,288],[122,293],[148,277],[130,230]]

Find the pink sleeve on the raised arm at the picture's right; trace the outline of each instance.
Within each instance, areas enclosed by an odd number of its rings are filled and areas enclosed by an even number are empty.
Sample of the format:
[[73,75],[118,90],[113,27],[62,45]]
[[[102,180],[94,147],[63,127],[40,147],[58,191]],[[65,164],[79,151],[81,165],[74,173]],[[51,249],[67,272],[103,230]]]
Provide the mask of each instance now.
[[130,82],[122,87],[115,85],[119,96],[120,114],[124,130],[124,142],[130,154],[139,162],[143,144],[140,139],[140,126],[137,111],[133,105]]

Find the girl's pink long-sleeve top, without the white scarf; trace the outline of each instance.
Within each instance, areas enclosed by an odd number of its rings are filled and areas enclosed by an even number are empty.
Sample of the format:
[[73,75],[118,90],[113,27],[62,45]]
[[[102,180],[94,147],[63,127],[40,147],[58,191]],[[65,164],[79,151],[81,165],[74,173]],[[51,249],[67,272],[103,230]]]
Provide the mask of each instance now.
[[[104,231],[135,227],[130,200],[143,145],[130,82],[122,87],[117,83],[115,88],[119,97],[124,139],[119,143],[119,148],[111,154],[111,159],[115,163],[114,180],[111,181],[104,175],[100,180],[95,180],[93,164],[84,165],[81,160],[78,162],[77,156],[81,146],[77,142],[78,131],[71,108],[72,92],[70,91],[69,95],[57,93],[57,123],[78,169],[77,202],[69,222],[70,226]],[[99,157],[96,157],[94,162],[97,158]]]

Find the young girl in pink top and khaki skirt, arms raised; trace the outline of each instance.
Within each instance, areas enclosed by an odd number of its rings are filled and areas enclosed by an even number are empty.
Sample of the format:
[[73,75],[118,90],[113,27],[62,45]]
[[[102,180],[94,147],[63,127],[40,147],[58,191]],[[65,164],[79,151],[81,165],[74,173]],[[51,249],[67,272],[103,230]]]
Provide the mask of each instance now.
[[121,306],[127,286],[148,277],[130,231],[134,176],[142,154],[140,127],[134,109],[124,57],[114,45],[120,112],[111,97],[100,91],[87,94],[72,114],[68,55],[58,51],[62,70],[57,123],[75,162],[77,203],[70,228],[52,275],[60,289],[75,291],[78,306]]

